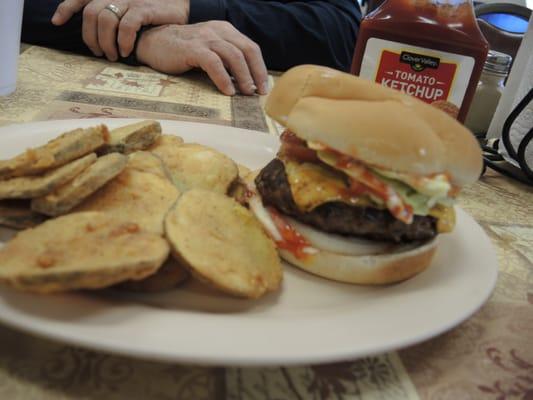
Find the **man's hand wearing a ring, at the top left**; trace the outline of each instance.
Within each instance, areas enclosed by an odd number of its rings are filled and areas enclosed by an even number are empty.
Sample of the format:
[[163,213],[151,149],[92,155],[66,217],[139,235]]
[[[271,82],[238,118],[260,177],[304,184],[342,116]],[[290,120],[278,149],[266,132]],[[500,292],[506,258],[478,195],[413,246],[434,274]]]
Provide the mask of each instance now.
[[[122,15],[106,9],[114,4]],[[117,42],[122,57],[133,50],[137,32],[143,25],[186,24],[189,0],[65,0],[52,17],[54,25],[63,25],[83,9],[82,36],[97,55],[110,61],[118,59]]]

